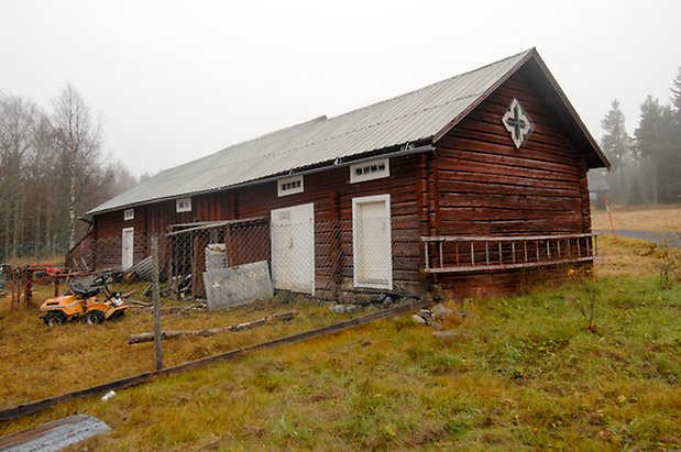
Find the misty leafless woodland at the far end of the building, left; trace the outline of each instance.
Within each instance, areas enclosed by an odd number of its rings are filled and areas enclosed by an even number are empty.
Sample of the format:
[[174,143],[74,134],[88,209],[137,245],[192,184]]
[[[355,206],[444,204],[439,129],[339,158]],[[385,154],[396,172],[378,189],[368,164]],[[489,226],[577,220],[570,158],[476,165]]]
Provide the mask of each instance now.
[[136,183],[70,84],[48,110],[0,92],[0,262],[66,252],[83,213]]

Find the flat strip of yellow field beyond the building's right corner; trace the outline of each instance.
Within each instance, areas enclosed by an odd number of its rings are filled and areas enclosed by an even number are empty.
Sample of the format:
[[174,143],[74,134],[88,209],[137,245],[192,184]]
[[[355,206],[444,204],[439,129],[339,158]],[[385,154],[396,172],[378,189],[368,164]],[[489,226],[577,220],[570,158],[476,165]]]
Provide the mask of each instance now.
[[[637,231],[681,231],[681,205],[623,208],[611,211],[615,231],[631,229]],[[611,229],[605,211],[592,211],[593,229]]]

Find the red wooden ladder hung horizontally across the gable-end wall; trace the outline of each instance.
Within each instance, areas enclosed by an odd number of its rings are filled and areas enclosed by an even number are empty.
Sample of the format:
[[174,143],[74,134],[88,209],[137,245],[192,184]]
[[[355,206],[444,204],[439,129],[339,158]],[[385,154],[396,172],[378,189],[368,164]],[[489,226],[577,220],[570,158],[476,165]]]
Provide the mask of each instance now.
[[596,234],[421,236],[425,273],[463,273],[570,265],[598,255]]

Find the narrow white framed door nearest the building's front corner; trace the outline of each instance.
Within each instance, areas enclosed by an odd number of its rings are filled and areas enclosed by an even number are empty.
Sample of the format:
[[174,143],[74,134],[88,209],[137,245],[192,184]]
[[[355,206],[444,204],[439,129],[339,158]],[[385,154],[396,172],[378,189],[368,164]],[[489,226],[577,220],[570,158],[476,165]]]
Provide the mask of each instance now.
[[393,289],[389,195],[352,199],[352,256],[355,287]]

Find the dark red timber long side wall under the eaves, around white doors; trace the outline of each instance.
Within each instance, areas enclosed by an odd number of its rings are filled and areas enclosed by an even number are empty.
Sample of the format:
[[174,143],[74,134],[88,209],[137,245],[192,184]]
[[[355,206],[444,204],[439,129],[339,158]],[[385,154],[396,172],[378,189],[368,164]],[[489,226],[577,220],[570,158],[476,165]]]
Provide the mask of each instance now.
[[[381,158],[380,156],[376,158]],[[191,211],[177,213],[175,200],[135,208],[135,219],[123,221],[123,210],[96,217],[97,239],[118,243],[121,230],[135,228],[135,243],[146,234],[168,232],[171,224],[194,221],[233,220],[254,217],[270,219],[271,211],[314,202],[315,262],[317,287],[329,287],[331,275],[341,272],[343,288],[352,285],[352,199],[391,195],[393,239],[393,283],[396,291],[422,289],[421,217],[427,216],[427,169],[430,158],[424,154],[389,159],[389,177],[350,184],[348,166],[305,176],[305,191],[277,196],[275,180],[232,190],[191,197]],[[432,203],[432,202],[431,202]],[[337,224],[332,228],[331,224]],[[140,239],[138,239],[140,236]],[[139,242],[142,243],[142,242]],[[135,253],[138,253],[135,245]],[[139,251],[139,253],[144,253]],[[120,251],[111,253],[119,258]],[[135,254],[138,258],[142,255]],[[101,261],[100,261],[101,264]],[[116,264],[120,265],[120,261]]]

